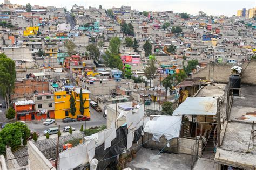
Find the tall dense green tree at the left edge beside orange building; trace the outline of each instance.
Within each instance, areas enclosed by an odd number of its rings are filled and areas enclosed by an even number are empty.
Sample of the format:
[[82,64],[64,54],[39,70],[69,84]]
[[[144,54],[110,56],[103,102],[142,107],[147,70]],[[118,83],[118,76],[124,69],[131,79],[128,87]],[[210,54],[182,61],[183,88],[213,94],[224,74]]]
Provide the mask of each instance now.
[[2,53],[0,54],[0,93],[9,108],[9,95],[14,90],[16,79],[15,62]]

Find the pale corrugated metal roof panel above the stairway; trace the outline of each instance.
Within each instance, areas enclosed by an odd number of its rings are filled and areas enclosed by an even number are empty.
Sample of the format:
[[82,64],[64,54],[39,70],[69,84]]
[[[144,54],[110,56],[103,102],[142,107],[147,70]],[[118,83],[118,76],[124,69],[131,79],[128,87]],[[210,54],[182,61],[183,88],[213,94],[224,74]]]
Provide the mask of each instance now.
[[174,110],[176,115],[216,115],[217,99],[213,97],[187,97],[186,100]]

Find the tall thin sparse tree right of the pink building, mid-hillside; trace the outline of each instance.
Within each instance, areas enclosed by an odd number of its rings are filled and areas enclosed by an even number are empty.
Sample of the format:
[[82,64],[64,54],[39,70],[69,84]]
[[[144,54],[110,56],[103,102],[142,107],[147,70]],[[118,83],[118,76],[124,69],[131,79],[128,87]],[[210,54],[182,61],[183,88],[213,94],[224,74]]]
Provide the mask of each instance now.
[[156,58],[151,58],[150,60],[147,61],[147,65],[144,68],[144,74],[147,77],[147,79],[150,79],[150,89],[151,89],[151,80],[156,77],[156,67],[157,59]]

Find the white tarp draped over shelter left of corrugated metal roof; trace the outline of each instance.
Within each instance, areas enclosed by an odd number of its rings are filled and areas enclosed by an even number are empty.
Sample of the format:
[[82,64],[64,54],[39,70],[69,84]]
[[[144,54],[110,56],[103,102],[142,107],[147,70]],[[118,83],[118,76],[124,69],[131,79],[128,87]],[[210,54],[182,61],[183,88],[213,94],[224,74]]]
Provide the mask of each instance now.
[[161,136],[166,140],[179,137],[181,116],[156,116],[145,124],[144,132],[153,134],[153,141],[159,141]]

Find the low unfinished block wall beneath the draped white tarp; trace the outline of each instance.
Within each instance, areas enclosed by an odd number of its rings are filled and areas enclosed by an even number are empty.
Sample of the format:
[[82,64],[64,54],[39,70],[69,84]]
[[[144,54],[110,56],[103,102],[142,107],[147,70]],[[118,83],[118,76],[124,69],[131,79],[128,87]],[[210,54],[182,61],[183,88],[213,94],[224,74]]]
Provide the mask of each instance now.
[[[145,133],[145,132],[144,132]],[[157,141],[152,141],[152,134],[150,133],[145,133],[143,136],[143,143],[147,141],[145,144],[145,147],[149,148],[157,148],[158,150],[167,151],[167,152],[174,152],[174,153],[185,153],[188,155],[192,154],[192,146],[195,145],[195,140],[194,139],[186,139],[186,138],[175,138],[169,141],[170,147],[167,147],[167,140],[165,139],[164,136],[160,137],[160,142]],[[178,142],[178,145],[177,145]],[[177,147],[178,146],[178,147]],[[202,142],[197,141],[197,147],[198,147],[198,155],[199,157],[202,155]]]

